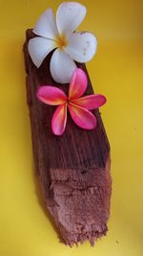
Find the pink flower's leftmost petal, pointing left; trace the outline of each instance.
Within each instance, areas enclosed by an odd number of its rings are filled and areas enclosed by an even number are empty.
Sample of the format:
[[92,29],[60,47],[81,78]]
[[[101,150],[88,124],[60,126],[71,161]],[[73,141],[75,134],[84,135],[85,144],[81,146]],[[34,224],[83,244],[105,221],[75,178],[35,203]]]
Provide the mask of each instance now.
[[41,86],[37,91],[37,97],[47,105],[61,105],[67,100],[66,94],[54,86]]

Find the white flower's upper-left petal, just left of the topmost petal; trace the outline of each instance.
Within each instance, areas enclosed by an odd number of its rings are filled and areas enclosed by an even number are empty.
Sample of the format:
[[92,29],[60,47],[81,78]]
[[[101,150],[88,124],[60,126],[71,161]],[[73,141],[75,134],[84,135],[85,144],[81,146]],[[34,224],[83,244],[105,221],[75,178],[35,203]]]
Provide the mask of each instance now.
[[37,20],[33,33],[50,39],[55,39],[59,35],[51,8],[46,10]]

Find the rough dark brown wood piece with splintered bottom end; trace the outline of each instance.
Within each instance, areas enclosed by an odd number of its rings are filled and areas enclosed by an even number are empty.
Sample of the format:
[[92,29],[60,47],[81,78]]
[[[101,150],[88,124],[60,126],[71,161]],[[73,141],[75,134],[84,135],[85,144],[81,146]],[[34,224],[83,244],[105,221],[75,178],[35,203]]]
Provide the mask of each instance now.
[[[51,56],[39,69],[33,65],[27,49],[33,36],[28,30],[24,55],[35,170],[43,198],[63,243],[72,245],[88,239],[94,244],[97,238],[106,234],[110,215],[110,145],[98,110],[94,112],[98,127],[92,131],[76,127],[68,114],[64,135],[57,137],[51,133],[55,107],[37,100],[37,88],[53,84],[68,92],[68,86],[51,79]],[[84,64],[78,66],[87,72]],[[87,94],[90,93],[89,79]]]

